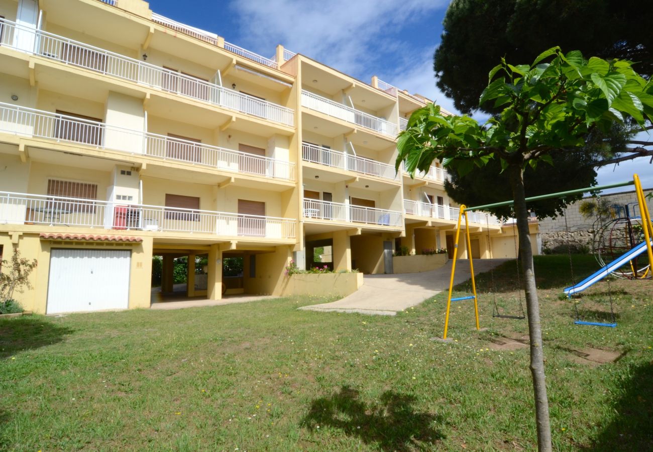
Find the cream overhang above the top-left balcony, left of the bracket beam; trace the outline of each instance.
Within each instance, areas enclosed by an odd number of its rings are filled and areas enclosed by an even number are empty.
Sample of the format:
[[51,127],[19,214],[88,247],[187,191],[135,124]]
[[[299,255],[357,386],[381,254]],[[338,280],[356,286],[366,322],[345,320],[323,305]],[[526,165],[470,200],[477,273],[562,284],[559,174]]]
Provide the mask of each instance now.
[[48,24],[73,29],[136,50],[150,30],[146,20],[135,20],[132,14],[100,1],[76,1],[74,7],[62,7],[61,0],[40,0],[39,6],[46,12]]

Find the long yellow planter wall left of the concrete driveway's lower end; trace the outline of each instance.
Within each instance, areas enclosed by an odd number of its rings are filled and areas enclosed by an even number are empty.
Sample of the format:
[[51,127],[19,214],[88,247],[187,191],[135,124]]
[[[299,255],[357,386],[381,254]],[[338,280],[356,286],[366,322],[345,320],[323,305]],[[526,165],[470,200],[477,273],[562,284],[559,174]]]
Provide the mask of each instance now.
[[284,279],[281,295],[337,295],[346,297],[363,285],[362,273],[298,273]]

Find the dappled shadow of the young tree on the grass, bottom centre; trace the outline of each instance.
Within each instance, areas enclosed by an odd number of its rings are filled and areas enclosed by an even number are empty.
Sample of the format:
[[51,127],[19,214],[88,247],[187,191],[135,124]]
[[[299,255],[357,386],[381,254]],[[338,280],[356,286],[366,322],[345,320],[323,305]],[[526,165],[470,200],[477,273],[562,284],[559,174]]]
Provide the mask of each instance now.
[[335,427],[349,436],[358,436],[365,444],[376,444],[382,450],[406,450],[416,442],[435,442],[444,438],[434,428],[439,416],[416,413],[415,397],[394,391],[381,395],[378,404],[367,406],[356,389],[343,386],[338,393],[317,398],[302,419],[309,430]]

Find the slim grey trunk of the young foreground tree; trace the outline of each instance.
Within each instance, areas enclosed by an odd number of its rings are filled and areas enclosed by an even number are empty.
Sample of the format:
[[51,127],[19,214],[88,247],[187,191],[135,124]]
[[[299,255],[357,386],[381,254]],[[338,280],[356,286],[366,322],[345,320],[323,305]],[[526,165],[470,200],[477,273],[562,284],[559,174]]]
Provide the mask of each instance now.
[[519,234],[519,254],[524,274],[526,312],[528,315],[528,336],[530,339],[530,370],[535,393],[535,421],[537,423],[537,448],[551,450],[551,427],[549,423],[549,399],[544,375],[544,351],[542,349],[542,325],[539,320],[539,302],[535,286],[533,251],[528,229],[528,210],[524,191],[524,172],[521,165],[511,165],[510,182],[515,200],[515,219]]

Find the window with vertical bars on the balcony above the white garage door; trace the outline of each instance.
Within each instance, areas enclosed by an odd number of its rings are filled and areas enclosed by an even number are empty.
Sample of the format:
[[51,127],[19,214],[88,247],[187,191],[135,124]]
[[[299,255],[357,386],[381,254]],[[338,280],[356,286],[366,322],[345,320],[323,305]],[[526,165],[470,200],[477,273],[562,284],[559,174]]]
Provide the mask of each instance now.
[[[95,202],[93,200],[97,199],[97,184],[48,179],[47,194],[48,205],[44,206],[43,209],[48,214],[69,214],[72,212],[95,214]],[[79,201],[63,200],[58,199],[58,197],[76,198]]]

